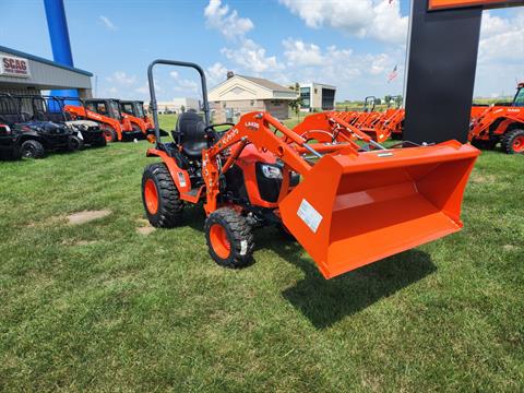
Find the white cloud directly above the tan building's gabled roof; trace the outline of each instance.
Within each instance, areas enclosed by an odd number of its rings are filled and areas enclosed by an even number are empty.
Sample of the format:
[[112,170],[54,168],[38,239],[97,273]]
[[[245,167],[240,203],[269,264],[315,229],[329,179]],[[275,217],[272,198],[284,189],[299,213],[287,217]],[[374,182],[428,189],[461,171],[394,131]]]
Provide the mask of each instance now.
[[222,48],[221,52],[248,72],[260,74],[266,71],[277,71],[284,68],[275,56],[266,56],[265,48],[252,39],[243,39],[235,49]]

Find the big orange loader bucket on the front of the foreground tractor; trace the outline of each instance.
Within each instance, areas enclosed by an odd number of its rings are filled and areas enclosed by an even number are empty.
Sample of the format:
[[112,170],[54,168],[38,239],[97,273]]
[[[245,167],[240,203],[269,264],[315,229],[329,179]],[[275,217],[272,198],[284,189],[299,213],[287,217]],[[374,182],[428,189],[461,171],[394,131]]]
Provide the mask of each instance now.
[[479,151],[433,146],[325,155],[279,204],[326,278],[457,231]]

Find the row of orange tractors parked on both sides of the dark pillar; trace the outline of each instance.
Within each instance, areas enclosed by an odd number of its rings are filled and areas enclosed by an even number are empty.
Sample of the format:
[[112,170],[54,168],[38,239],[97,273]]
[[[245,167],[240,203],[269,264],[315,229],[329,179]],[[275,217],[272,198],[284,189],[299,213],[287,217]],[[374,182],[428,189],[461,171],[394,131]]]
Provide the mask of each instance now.
[[[385,111],[376,111],[374,103],[374,97],[366,97],[364,110],[332,112],[332,118],[364,131],[376,142],[390,138],[403,140],[404,109],[389,107]],[[314,117],[310,121],[314,121]],[[517,85],[511,103],[472,106],[468,141],[485,150],[500,143],[508,154],[524,154],[524,83]]]

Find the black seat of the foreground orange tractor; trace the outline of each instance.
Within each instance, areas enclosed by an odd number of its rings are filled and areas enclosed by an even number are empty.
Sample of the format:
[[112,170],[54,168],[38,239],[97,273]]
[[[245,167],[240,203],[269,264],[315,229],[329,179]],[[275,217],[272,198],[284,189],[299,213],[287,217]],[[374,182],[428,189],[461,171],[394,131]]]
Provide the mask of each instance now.
[[188,158],[202,158],[202,150],[207,148],[207,140],[205,122],[198,114],[187,111],[178,117],[177,127],[172,133],[175,141],[178,140],[177,135],[180,135],[182,152]]

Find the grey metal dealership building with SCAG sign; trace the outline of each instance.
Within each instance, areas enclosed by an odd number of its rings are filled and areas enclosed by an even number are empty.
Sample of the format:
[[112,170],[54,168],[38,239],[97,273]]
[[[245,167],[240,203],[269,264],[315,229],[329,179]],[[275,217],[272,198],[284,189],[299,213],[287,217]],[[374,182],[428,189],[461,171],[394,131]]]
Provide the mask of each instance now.
[[37,95],[75,88],[80,97],[90,98],[92,76],[91,72],[0,46],[0,93]]

